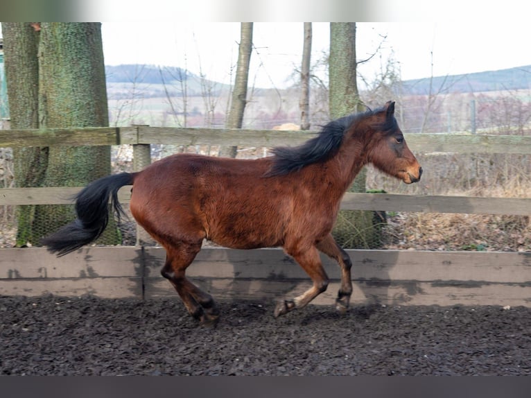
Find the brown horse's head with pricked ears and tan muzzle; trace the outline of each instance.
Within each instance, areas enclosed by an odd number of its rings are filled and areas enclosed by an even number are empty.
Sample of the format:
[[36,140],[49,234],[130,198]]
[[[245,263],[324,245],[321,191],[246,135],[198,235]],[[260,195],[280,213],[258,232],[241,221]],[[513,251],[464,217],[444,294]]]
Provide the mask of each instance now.
[[394,101],[388,101],[381,109],[375,110],[367,119],[366,126],[367,161],[406,184],[419,181],[422,168],[394,118]]

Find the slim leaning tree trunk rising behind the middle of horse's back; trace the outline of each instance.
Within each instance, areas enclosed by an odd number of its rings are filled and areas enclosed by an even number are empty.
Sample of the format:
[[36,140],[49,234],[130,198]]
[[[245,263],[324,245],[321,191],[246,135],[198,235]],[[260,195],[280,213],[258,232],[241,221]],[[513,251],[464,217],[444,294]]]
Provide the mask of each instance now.
[[[241,128],[243,113],[247,105],[247,81],[249,80],[249,64],[252,53],[252,22],[241,23],[240,46],[238,49],[238,64],[236,66],[236,78],[229,114],[227,116],[227,128]],[[219,155],[236,157],[237,146],[225,146],[220,148]]]

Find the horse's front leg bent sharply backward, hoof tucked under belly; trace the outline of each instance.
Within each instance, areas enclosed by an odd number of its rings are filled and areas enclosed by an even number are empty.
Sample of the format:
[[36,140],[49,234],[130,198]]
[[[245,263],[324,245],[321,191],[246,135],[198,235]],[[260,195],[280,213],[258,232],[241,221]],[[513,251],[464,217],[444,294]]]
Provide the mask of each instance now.
[[275,308],[275,318],[279,315],[284,315],[294,309],[302,308],[306,306],[317,295],[327,290],[328,276],[322,268],[319,252],[315,247],[311,247],[308,250],[288,250],[286,252],[292,256],[299,266],[306,271],[313,281],[313,286],[307,291],[295,297],[293,300],[283,300],[277,304]]

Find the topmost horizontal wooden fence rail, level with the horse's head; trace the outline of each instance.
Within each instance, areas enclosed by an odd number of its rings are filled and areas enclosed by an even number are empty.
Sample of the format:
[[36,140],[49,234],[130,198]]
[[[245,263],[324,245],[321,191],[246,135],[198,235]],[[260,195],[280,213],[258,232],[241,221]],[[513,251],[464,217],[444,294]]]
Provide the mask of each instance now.
[[[0,130],[0,148],[120,144],[295,146],[313,135],[315,132],[148,126]],[[531,154],[530,136],[448,133],[406,133],[405,136],[410,149],[419,152]]]

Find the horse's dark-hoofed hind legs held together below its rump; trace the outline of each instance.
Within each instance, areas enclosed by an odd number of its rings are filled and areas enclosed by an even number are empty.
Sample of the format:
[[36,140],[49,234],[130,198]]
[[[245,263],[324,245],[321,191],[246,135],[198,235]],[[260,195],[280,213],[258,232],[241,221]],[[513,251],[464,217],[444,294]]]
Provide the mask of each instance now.
[[190,315],[200,320],[202,325],[209,326],[215,325],[219,318],[216,303],[211,295],[195,286],[185,276],[186,268],[200,249],[200,243],[198,245],[182,243],[178,248],[166,248],[166,263],[161,274],[175,287]]

